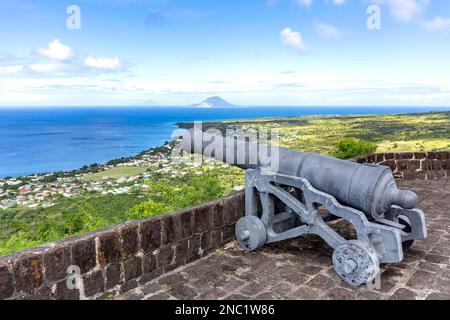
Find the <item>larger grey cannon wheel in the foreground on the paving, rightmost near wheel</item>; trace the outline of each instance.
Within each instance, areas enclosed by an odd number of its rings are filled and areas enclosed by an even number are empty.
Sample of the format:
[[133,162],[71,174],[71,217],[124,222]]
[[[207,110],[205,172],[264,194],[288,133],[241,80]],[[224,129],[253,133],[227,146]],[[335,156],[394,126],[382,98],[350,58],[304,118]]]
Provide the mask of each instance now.
[[380,260],[374,248],[360,240],[349,240],[333,252],[336,273],[348,284],[360,286],[375,279]]

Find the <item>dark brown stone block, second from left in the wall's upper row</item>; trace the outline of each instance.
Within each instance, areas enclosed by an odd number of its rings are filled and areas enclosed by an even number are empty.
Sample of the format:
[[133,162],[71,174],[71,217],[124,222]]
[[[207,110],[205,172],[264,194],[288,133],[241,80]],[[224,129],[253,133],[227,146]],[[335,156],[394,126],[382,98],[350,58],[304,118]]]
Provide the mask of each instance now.
[[31,292],[42,285],[42,257],[39,255],[24,256],[14,264],[14,277],[18,292]]

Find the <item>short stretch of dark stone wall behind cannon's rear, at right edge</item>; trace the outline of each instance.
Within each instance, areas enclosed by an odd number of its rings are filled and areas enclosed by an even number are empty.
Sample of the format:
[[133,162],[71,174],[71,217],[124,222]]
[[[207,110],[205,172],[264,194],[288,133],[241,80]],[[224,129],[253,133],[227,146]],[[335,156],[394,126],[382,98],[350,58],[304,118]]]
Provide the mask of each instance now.
[[450,151],[377,153],[355,158],[352,161],[388,166],[396,179],[450,178]]

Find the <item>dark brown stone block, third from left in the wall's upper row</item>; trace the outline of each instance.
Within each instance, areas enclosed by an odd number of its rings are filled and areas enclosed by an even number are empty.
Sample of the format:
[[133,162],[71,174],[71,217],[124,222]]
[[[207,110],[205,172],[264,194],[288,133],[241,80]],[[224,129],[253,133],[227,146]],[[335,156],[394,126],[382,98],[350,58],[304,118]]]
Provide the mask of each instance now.
[[44,254],[45,279],[56,282],[67,276],[67,268],[71,265],[70,248],[61,247]]

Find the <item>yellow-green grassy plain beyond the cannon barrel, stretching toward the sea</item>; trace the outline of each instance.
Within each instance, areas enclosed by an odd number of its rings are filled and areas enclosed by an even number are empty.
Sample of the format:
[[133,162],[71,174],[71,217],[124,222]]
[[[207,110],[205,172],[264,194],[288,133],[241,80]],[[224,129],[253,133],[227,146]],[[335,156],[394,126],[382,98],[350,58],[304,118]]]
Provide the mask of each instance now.
[[285,147],[335,155],[345,138],[375,143],[377,152],[450,149],[450,112],[396,115],[348,115],[267,118],[206,124],[277,130]]

